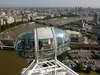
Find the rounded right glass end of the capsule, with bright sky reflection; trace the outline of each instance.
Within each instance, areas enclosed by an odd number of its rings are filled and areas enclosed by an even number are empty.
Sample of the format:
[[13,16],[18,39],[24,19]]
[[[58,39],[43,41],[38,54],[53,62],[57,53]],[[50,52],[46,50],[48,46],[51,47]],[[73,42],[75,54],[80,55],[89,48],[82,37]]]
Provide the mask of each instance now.
[[68,34],[64,30],[54,28],[54,31],[58,47],[57,55],[60,55],[61,53],[63,53],[68,49],[70,39]]

